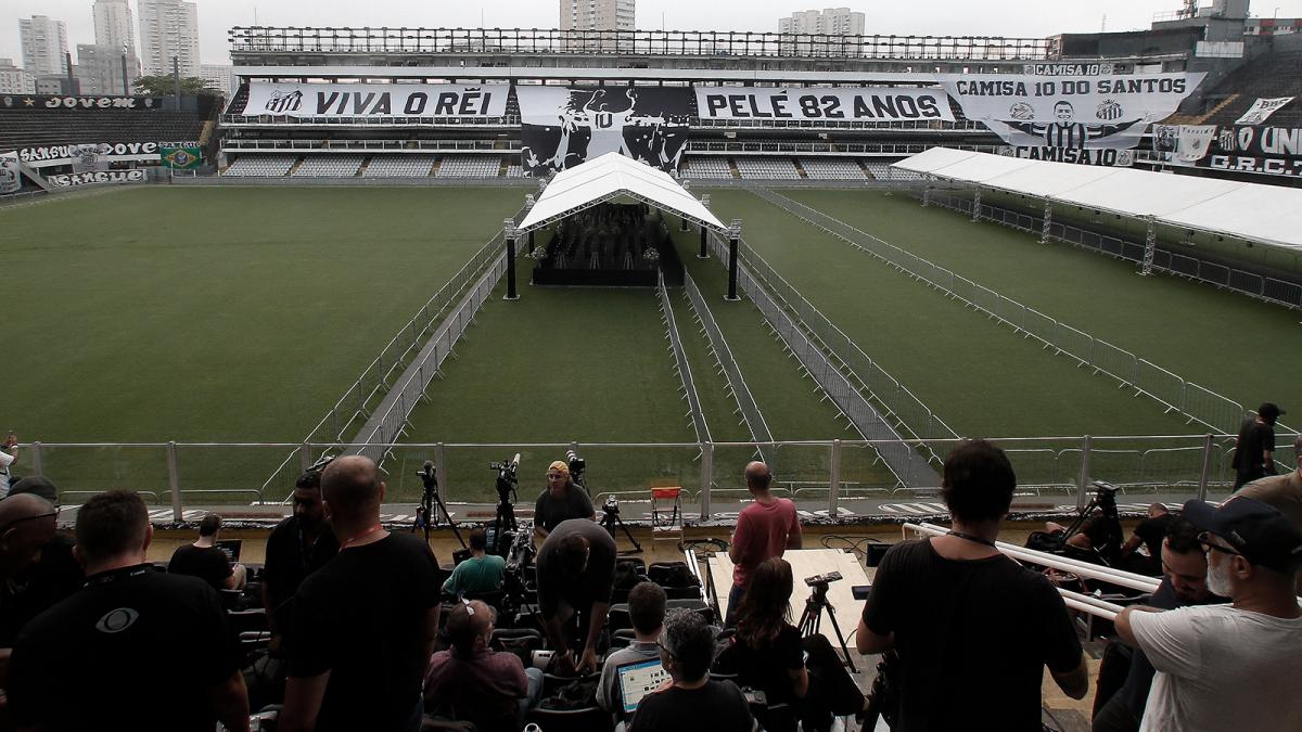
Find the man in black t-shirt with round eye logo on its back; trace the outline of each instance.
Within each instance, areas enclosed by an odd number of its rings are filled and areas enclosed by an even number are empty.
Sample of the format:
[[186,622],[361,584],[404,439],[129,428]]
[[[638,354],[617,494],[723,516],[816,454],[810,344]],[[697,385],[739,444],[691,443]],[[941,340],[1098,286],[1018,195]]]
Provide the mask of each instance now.
[[249,729],[240,646],[217,594],[155,570],[152,537],[132,492],[100,494],[77,512],[86,586],[18,636],[8,689],[18,728]]

